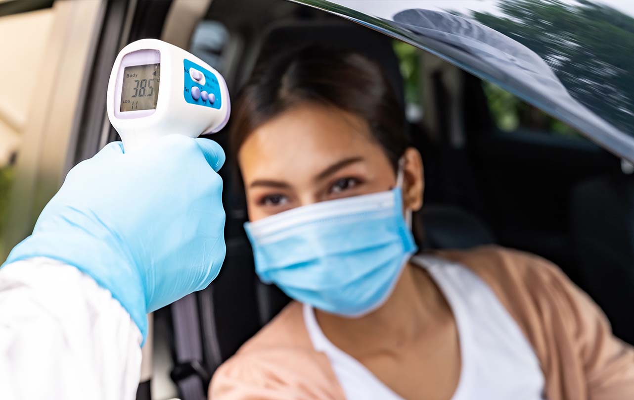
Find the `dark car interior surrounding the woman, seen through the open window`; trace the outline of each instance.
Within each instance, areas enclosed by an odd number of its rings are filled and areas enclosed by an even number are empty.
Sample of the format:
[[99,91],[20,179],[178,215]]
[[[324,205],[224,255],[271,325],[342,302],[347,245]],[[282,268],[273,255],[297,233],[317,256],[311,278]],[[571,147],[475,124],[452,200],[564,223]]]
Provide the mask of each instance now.
[[[634,190],[618,157],[579,133],[551,130],[552,118],[526,103],[517,126],[501,129],[486,83],[419,50],[418,76],[407,83],[418,91],[412,102],[394,41],[361,25],[279,2],[229,19],[230,3],[214,2],[190,50],[227,73],[234,96],[257,63],[301,44],[350,48],[377,61],[408,110],[408,134],[424,159],[424,250],[498,244],[547,258],[598,302],[618,337],[634,343],[634,219],[627,218]],[[224,146],[229,130],[211,138]],[[159,314],[171,327],[171,378],[184,399],[205,398],[216,368],[289,302],[256,276],[242,227],[242,183],[229,163],[220,173],[227,210],[221,274]]]

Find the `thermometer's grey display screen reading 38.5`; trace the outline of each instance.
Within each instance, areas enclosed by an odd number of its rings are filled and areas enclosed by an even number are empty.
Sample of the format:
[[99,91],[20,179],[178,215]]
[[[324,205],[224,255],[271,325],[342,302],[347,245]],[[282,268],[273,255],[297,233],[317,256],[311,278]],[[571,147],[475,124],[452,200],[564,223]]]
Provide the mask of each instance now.
[[159,83],[160,63],[125,67],[119,111],[155,110]]

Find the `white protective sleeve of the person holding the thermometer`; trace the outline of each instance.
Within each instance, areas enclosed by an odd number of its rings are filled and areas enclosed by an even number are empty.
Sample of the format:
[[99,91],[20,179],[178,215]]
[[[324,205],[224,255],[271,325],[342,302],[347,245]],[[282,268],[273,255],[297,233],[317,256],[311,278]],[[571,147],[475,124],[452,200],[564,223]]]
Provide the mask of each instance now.
[[0,399],[134,399],[140,343],[110,291],[75,267],[0,269]]

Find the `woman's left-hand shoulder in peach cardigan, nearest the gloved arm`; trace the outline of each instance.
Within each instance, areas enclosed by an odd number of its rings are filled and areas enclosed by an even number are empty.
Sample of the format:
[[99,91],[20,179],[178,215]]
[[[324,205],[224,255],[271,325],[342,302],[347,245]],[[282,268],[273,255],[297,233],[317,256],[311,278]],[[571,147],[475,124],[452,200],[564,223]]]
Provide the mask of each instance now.
[[327,357],[314,350],[292,302],[214,374],[214,399],[339,399]]

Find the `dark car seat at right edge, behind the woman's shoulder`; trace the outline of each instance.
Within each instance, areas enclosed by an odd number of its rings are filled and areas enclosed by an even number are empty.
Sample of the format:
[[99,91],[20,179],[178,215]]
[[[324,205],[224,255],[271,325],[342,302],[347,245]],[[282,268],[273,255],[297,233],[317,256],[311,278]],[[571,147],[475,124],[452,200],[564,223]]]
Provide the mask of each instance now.
[[634,344],[634,177],[579,183],[570,220],[579,286],[604,310],[614,334]]

